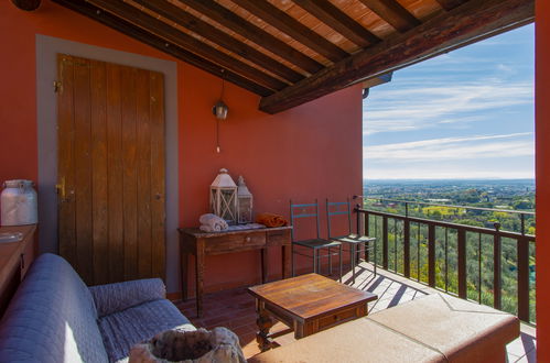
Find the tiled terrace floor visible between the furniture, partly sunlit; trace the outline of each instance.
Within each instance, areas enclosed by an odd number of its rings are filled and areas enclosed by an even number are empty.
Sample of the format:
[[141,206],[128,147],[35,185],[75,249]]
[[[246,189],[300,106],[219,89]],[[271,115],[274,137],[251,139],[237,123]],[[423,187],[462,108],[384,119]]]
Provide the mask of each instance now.
[[[362,263],[356,268],[355,284],[352,274],[344,275],[344,283],[359,289],[368,290],[378,295],[378,300],[368,305],[369,314],[386,309],[405,301],[432,294],[435,290],[402,276],[378,268],[378,275],[374,276],[370,264]],[[204,296],[204,316],[196,318],[195,300],[191,299],[179,305],[182,312],[191,319],[196,327],[212,329],[215,327],[227,327],[239,336],[240,344],[246,358],[259,353],[256,343],[256,311],[254,298],[246,292],[245,287],[231,290],[208,294]],[[285,326],[277,323],[271,332],[283,330]],[[294,340],[289,333],[276,339],[281,345]],[[536,362],[537,340],[535,328],[521,324],[521,337],[508,344],[508,362]]]

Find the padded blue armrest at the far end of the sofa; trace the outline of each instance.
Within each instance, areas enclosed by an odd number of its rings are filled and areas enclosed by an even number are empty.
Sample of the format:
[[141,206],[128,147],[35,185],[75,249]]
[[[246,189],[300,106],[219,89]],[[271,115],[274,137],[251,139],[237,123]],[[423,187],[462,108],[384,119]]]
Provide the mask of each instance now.
[[99,317],[166,297],[166,287],[160,278],[91,286],[89,290],[94,296]]

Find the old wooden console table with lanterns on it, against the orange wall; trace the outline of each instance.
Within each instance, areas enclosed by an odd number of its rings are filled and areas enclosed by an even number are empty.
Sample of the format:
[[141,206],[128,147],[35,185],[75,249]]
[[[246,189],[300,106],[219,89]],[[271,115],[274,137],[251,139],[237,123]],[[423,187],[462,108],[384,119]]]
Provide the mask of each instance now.
[[291,229],[292,227],[277,227],[227,232],[203,232],[197,228],[179,229],[183,299],[187,299],[188,294],[186,285],[187,261],[190,254],[194,255],[196,258],[196,310],[198,317],[203,314],[204,260],[207,255],[260,250],[261,280],[262,283],[267,283],[267,249],[271,246],[280,246],[282,249],[282,276],[283,278],[290,277],[292,263]]

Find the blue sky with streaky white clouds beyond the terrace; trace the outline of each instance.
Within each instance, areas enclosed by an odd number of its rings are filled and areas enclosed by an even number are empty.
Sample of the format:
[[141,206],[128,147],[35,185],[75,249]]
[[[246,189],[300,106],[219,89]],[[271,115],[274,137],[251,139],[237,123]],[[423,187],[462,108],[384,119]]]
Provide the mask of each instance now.
[[397,70],[363,101],[365,179],[535,177],[532,24]]

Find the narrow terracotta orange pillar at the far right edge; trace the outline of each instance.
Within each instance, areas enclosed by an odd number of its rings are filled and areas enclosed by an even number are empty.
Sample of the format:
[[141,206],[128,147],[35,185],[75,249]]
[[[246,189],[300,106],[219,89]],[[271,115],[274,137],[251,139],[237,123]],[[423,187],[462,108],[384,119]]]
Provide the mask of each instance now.
[[537,358],[550,362],[550,1],[536,8]]

